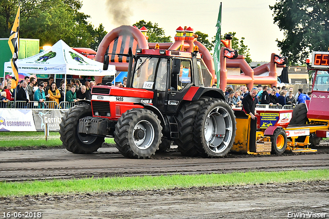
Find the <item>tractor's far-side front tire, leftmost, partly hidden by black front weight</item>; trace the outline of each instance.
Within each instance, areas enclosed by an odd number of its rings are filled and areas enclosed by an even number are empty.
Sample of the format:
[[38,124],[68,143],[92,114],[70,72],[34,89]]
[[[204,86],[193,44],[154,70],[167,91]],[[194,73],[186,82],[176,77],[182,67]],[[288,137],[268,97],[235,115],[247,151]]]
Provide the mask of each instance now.
[[60,139],[67,151],[75,154],[91,154],[104,142],[104,137],[78,133],[79,120],[93,116],[92,106],[77,105],[69,108],[60,124]]

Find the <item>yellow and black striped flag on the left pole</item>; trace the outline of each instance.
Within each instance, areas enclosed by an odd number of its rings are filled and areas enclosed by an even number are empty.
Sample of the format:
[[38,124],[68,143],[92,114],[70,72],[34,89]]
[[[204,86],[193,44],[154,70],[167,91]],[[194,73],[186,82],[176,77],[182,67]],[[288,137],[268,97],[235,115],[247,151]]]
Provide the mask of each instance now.
[[11,69],[14,72],[14,77],[11,79],[11,88],[15,88],[19,82],[19,69],[17,67],[17,60],[19,59],[19,50],[20,50],[20,7],[17,10],[15,22],[12,26],[8,44],[12,53],[11,59]]

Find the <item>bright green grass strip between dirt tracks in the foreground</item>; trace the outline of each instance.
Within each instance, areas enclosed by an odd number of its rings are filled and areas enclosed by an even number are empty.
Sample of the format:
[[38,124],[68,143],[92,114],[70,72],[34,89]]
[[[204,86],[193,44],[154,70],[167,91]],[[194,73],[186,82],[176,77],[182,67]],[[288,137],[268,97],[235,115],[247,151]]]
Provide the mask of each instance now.
[[70,194],[190,187],[237,186],[298,181],[328,180],[329,170],[234,172],[227,174],[105,177],[70,180],[0,182],[0,196]]

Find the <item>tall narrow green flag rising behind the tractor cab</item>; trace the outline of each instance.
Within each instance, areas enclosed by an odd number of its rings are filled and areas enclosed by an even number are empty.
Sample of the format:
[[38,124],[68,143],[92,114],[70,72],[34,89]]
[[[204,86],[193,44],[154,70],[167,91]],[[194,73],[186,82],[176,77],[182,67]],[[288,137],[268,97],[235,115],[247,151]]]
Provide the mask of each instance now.
[[220,63],[220,51],[221,51],[221,26],[222,26],[222,3],[220,5],[220,12],[218,13],[218,20],[217,20],[217,33],[216,33],[216,40],[215,40],[215,48],[214,48],[214,65],[215,65],[215,72],[217,77],[217,88],[220,87],[220,70],[221,70],[221,63]]

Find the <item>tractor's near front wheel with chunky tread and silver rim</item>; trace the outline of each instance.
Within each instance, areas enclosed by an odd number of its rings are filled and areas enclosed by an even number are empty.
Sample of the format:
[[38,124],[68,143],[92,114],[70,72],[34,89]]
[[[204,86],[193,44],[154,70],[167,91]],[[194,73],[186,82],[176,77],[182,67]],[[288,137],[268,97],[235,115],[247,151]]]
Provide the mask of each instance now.
[[127,158],[150,158],[161,142],[162,127],[149,109],[133,108],[121,115],[115,125],[114,141]]

